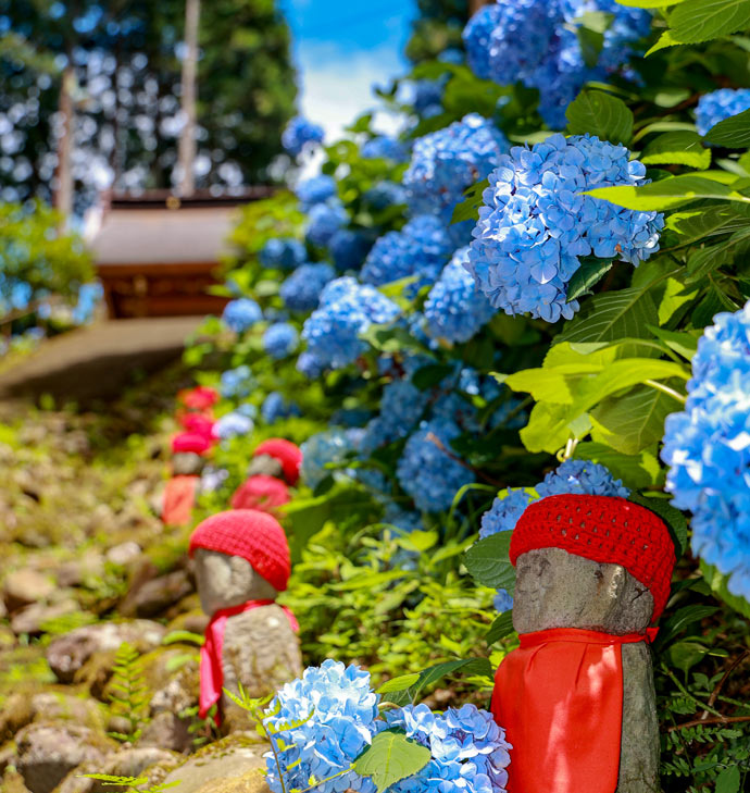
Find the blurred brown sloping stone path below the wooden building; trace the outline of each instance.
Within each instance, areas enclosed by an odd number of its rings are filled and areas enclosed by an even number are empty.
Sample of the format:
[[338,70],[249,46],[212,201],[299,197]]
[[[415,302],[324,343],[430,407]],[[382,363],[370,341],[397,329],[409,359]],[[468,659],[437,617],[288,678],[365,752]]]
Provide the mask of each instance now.
[[179,358],[201,317],[110,320],[41,344],[0,374],[0,401],[50,394],[58,405],[111,399],[139,373]]

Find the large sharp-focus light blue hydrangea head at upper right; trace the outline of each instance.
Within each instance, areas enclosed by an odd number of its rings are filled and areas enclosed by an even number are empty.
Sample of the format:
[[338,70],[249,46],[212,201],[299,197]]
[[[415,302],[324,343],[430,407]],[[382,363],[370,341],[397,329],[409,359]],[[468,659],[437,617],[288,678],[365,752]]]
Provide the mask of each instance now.
[[496,308],[548,322],[571,319],[566,301],[579,257],[637,265],[659,250],[664,219],[615,207],[583,190],[646,184],[646,168],[624,146],[589,135],[552,135],[511,149],[489,176],[474,230],[468,271]]

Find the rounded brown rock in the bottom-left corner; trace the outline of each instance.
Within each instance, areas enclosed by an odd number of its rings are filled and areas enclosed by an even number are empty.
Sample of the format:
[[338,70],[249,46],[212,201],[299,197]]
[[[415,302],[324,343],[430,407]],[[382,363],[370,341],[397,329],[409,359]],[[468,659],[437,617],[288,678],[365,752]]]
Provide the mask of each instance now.
[[15,766],[32,793],[51,793],[82,763],[101,765],[114,741],[79,724],[34,723],[15,739]]

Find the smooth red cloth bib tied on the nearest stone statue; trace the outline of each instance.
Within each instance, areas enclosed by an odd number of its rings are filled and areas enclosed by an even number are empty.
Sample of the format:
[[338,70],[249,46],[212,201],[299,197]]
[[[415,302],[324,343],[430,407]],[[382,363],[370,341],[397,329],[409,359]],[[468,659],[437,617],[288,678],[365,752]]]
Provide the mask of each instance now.
[[648,640],[575,628],[521,635],[498,667],[491,703],[513,745],[508,793],[615,793],[622,645]]

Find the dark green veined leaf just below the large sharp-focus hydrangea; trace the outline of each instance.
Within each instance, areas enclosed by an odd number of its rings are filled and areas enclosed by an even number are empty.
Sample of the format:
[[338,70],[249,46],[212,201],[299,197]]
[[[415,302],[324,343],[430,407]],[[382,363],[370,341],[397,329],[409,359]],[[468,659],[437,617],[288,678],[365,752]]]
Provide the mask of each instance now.
[[648,324],[659,324],[659,312],[647,288],[605,292],[588,300],[555,342],[648,338]]

